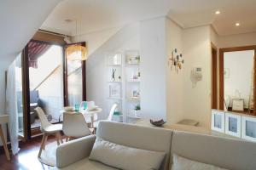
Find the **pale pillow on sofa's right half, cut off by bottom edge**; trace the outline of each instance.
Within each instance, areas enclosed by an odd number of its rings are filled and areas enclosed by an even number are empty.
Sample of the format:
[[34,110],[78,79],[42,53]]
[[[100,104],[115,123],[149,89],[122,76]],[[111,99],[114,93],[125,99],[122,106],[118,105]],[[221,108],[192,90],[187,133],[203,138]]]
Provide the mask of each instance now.
[[172,170],[227,170],[220,167],[215,167],[206,163],[192,161],[181,156],[173,155]]

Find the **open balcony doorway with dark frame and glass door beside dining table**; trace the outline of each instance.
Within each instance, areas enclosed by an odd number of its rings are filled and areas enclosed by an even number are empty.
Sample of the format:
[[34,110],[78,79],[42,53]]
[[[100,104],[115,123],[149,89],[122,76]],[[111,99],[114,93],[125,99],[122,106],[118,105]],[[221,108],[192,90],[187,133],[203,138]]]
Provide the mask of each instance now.
[[[79,44],[85,47],[85,42]],[[86,99],[85,61],[67,60],[66,47],[60,35],[38,32],[24,49],[21,60],[25,140],[41,135],[36,107],[43,109],[50,123],[60,123],[63,106],[74,106]]]

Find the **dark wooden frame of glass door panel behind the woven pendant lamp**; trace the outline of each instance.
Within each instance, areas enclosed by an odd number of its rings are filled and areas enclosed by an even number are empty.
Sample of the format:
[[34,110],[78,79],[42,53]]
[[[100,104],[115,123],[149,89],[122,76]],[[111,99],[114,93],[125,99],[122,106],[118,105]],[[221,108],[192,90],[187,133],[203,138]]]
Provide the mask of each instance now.
[[[82,46],[86,47],[86,42],[76,42],[76,43],[69,43],[67,44],[64,48],[63,48],[63,94],[64,94],[64,106],[68,105],[68,95],[67,95],[67,56],[66,56],[66,48],[69,45],[73,45],[73,44],[81,44]],[[82,69],[82,100],[86,101],[86,61],[83,60],[82,61],[82,65],[81,65],[81,69]]]

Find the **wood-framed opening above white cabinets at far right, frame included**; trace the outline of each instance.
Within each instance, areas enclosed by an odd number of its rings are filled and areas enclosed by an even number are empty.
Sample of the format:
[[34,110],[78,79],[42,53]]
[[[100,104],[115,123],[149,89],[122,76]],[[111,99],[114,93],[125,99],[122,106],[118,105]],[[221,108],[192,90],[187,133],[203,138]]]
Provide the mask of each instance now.
[[256,115],[256,46],[219,50],[219,109]]

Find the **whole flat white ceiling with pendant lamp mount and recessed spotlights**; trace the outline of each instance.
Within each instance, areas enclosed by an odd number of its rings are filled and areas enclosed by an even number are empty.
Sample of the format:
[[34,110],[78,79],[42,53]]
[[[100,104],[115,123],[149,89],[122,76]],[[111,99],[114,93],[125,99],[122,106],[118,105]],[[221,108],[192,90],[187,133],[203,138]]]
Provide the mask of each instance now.
[[[216,15],[215,11],[221,14]],[[183,28],[212,25],[218,35],[256,31],[256,0],[64,0],[42,29],[75,35],[168,15]],[[235,23],[241,26],[236,27]]]

